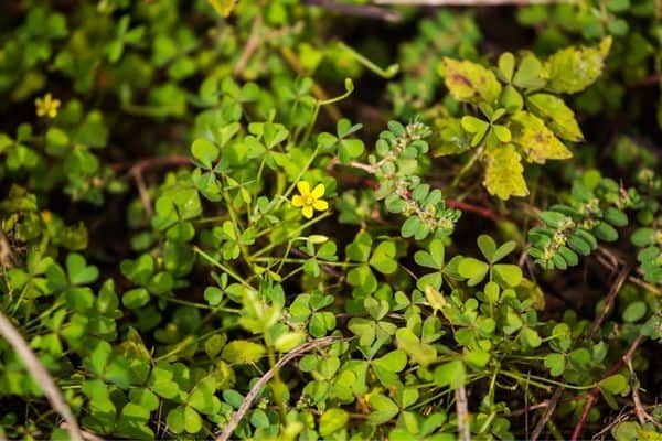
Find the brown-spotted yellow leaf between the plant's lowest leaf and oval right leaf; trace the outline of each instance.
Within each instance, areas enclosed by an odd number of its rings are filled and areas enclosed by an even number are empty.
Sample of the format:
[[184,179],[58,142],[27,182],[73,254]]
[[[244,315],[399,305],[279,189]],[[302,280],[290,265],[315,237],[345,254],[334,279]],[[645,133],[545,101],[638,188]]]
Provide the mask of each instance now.
[[522,110],[514,114],[511,120],[513,142],[526,153],[526,161],[544,164],[548,159],[568,159],[573,155],[536,116]]

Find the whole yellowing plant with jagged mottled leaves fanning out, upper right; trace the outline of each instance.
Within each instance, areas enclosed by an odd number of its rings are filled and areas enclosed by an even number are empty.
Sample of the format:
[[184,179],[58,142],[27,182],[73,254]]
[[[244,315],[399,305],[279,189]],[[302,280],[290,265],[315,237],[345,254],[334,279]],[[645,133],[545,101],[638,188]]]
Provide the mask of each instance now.
[[459,126],[447,118],[436,121],[437,154],[473,149],[468,164],[485,162],[483,185],[490,194],[502,200],[526,196],[522,159],[540,164],[568,159],[572,152],[558,138],[584,140],[575,114],[557,94],[590,86],[602,72],[610,45],[611,40],[605,39],[597,47],[567,47],[544,61],[531,53],[517,60],[506,52],[499,57],[495,72],[470,61],[444,58],[439,73],[446,87],[455,99],[471,105],[473,112],[463,116]]

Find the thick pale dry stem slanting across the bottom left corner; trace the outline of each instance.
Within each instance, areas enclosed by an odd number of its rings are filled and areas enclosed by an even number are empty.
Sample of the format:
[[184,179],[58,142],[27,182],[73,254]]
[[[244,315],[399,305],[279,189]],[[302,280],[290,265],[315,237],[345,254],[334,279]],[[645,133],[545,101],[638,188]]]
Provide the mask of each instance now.
[[19,331],[11,324],[9,319],[0,312],[0,334],[7,340],[11,347],[15,351],[19,357],[23,361],[25,368],[41,387],[46,399],[53,406],[53,409],[62,416],[64,421],[68,424],[67,430],[73,441],[83,441],[83,434],[81,428],[72,413],[68,405],[62,397],[60,389],[55,386],[55,381],[49,375],[47,370],[40,363],[36,355],[30,349],[25,340],[21,336]]

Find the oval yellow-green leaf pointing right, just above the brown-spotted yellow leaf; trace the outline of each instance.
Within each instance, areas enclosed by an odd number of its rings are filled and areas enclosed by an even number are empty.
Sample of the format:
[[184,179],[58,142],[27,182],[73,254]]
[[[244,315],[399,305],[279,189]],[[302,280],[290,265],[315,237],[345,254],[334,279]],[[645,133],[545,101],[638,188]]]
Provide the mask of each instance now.
[[575,142],[584,141],[584,133],[575,114],[563,99],[549,94],[533,94],[526,97],[526,106],[559,138]]

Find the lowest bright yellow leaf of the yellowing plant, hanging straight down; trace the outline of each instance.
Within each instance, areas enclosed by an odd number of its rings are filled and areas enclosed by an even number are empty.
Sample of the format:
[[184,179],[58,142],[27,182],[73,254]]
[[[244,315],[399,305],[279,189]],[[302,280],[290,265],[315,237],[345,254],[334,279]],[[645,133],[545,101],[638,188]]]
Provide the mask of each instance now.
[[490,194],[495,194],[502,200],[528,194],[523,175],[522,157],[515,151],[513,144],[488,149],[485,157],[488,166],[483,185]]

